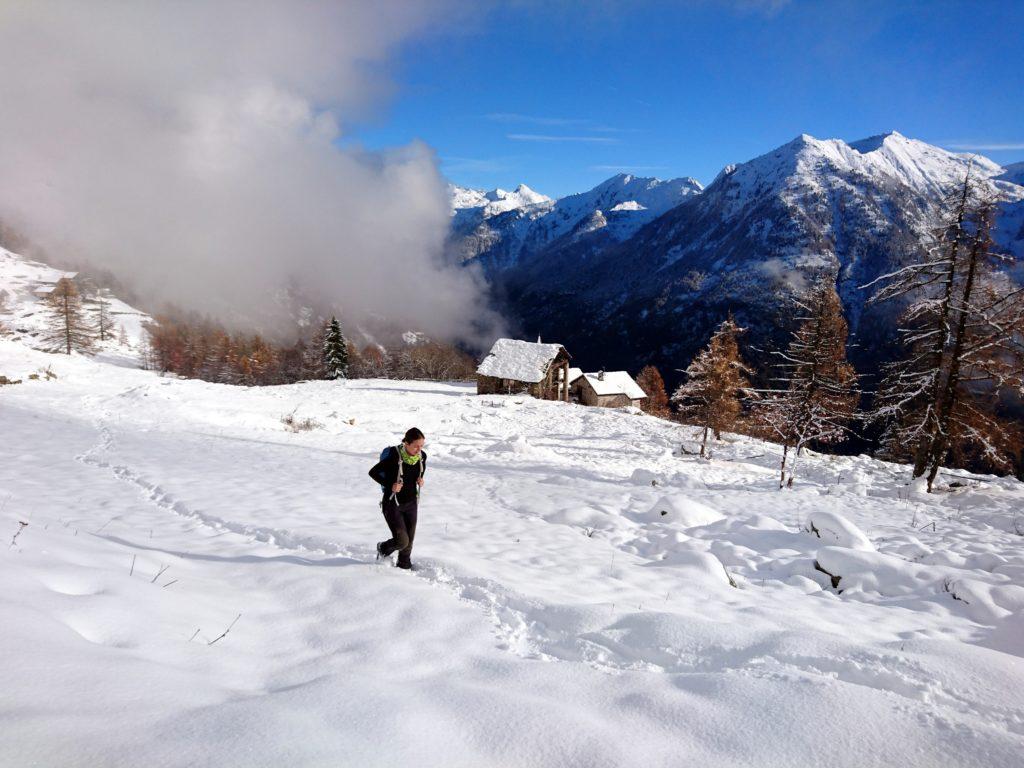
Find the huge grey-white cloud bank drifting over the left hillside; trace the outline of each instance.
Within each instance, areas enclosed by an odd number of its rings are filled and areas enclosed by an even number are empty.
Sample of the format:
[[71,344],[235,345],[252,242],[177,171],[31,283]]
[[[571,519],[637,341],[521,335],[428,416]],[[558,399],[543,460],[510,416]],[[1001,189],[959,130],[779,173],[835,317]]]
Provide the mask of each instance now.
[[433,152],[339,148],[446,2],[0,4],[0,219],[143,295],[269,322],[296,285],[437,336],[494,325],[441,264]]

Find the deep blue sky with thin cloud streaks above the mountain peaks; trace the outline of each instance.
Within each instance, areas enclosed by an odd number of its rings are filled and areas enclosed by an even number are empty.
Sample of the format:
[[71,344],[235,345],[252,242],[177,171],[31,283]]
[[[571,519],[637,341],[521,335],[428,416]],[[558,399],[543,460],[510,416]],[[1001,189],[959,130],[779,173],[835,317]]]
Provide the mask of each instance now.
[[407,45],[349,138],[421,139],[468,186],[622,170],[710,182],[800,133],[1024,160],[1024,2],[517,2]]

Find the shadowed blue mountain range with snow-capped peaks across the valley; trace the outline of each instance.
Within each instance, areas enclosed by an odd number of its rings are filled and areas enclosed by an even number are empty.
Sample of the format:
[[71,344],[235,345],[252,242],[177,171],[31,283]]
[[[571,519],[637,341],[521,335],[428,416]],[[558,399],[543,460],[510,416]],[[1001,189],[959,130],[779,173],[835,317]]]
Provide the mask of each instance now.
[[[483,218],[468,233],[454,228],[453,243],[484,267],[526,338],[558,341],[589,368],[653,362],[670,383],[730,311],[749,329],[752,355],[781,343],[790,299],[828,275],[851,357],[869,372],[891,354],[898,307],[867,305],[861,287],[920,254],[969,165],[1006,201],[999,247],[1024,258],[1020,169],[898,133],[851,143],[803,135],[725,168],[702,191],[618,176]],[[662,193],[666,184],[678,191]],[[658,202],[648,205],[638,186]],[[640,215],[620,224],[618,214]]]

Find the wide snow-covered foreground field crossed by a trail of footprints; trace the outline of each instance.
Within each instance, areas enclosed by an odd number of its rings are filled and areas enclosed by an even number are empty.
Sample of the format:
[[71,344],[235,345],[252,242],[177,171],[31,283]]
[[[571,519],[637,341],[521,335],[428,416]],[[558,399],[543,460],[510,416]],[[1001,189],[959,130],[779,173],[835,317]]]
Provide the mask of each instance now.
[[[776,446],[634,410],[0,340],[46,365],[0,387],[0,764],[1019,765],[1017,481],[808,455],[779,492]],[[414,424],[409,573],[366,471]]]

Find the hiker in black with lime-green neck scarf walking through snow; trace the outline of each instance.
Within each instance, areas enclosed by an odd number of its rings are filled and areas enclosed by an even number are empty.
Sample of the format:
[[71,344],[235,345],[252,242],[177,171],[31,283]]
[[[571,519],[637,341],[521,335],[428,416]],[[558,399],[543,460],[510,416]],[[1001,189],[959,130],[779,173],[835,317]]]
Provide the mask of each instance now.
[[370,470],[370,476],[384,492],[381,511],[391,529],[391,538],[378,542],[377,557],[398,553],[398,567],[412,568],[413,538],[416,536],[416,509],[427,472],[427,455],[423,451],[426,438],[413,427],[401,443],[385,449],[381,460]]

